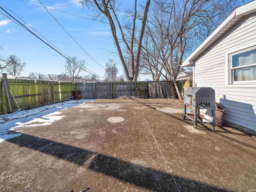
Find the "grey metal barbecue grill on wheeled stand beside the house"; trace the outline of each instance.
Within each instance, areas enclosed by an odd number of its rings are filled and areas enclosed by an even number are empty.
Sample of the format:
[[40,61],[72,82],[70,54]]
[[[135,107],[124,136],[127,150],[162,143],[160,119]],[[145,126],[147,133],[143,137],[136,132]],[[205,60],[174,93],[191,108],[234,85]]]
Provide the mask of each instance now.
[[[194,114],[186,114],[186,105],[194,107]],[[200,116],[200,109],[212,110],[212,121],[206,120]],[[194,119],[192,117],[194,116]],[[194,121],[194,128],[197,123],[212,124],[212,130],[215,127],[215,91],[210,87],[190,87],[184,91],[184,114],[182,119],[189,118]],[[200,119],[201,121],[198,121]],[[206,121],[203,121],[206,120]]]

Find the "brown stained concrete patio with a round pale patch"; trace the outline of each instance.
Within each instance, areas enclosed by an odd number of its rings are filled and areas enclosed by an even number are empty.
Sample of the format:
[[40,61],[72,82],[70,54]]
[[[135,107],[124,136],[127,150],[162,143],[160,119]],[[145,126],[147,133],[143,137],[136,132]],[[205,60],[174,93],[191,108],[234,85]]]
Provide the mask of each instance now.
[[[152,104],[81,104],[0,143],[0,191],[256,191],[256,140]],[[0,126],[3,126],[1,124]],[[210,126],[209,126],[210,127]]]

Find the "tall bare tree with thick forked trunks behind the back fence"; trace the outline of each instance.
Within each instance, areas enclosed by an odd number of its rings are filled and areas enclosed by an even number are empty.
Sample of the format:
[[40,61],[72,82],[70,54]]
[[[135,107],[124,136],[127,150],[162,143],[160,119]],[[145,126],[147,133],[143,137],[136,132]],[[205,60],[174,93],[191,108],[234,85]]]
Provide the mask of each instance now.
[[[120,61],[124,68],[126,78],[129,81],[137,81],[140,69],[140,53],[142,39],[144,36],[150,0],[146,0],[146,4],[144,6],[144,13],[142,16],[137,14],[137,0],[134,0],[134,10],[130,11],[130,16],[128,16],[128,18],[130,18],[131,20],[130,28],[124,28],[120,24],[119,18],[117,16],[117,12],[120,11],[117,0],[80,0],[80,3],[82,3],[83,8],[85,6],[87,6],[88,8],[94,8],[94,10],[96,10],[94,14],[95,18],[99,16],[104,16],[108,19],[112,36],[114,38],[114,42],[118,51]],[[136,20],[138,19],[141,20],[140,29],[136,28],[136,23],[138,24]],[[118,26],[121,35],[120,37],[118,36],[119,33],[116,30],[116,25]],[[127,29],[130,29],[129,31],[127,31],[129,35],[125,34],[125,30]],[[136,31],[139,31],[139,34],[138,40],[135,42],[134,38]],[[122,45],[124,46],[124,50],[122,50]],[[130,71],[128,70],[128,67],[125,62],[126,53],[128,53],[129,55]]]

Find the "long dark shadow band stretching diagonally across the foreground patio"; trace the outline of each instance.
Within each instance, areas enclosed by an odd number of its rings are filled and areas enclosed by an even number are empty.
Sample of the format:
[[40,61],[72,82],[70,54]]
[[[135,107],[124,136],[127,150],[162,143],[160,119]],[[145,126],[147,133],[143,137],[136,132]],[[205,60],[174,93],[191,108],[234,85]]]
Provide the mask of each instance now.
[[[84,162],[88,162],[89,170],[117,178],[148,190],[161,192],[178,191],[171,174],[132,164],[104,154],[98,154],[97,152],[62,144],[53,140],[38,138],[28,134],[23,134],[22,136],[10,139],[8,142],[78,164],[79,166],[84,166]],[[24,154],[22,154],[22,156],[23,155]],[[8,166],[11,162],[4,166]],[[188,178],[176,176],[175,173],[174,178],[180,191],[225,191],[214,186],[195,182]]]

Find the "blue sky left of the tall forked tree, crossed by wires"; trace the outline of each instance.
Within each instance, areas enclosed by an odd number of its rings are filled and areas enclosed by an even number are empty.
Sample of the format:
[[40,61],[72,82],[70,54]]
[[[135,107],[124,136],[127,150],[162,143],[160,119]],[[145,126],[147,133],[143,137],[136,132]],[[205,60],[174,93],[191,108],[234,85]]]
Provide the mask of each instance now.
[[[38,0],[24,1],[0,0],[0,5],[4,4],[64,53],[76,56],[78,59],[85,59],[87,62],[86,68],[101,76],[104,74],[104,68],[92,58],[103,66],[108,61],[108,58],[114,58],[118,61],[118,56],[111,55],[109,52],[115,52],[116,49],[108,24],[77,18],[48,9],[80,46],[92,56],[90,58],[43,7],[37,6],[40,5]],[[87,8],[82,10],[76,0],[41,0],[41,2],[47,8],[71,14],[74,12],[79,16],[92,18],[88,16],[91,13],[90,10]],[[14,15],[13,13],[11,14]],[[0,44],[4,48],[4,50],[0,50],[0,55],[8,56],[14,54],[26,62],[27,66],[22,72],[23,76],[28,75],[29,72],[41,72],[43,74],[60,74],[64,72],[65,58],[1,13]],[[121,64],[118,65],[118,68],[119,75],[121,75],[123,71]],[[86,72],[82,74],[86,74]]]

